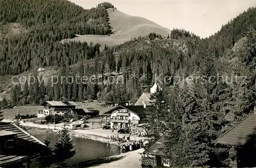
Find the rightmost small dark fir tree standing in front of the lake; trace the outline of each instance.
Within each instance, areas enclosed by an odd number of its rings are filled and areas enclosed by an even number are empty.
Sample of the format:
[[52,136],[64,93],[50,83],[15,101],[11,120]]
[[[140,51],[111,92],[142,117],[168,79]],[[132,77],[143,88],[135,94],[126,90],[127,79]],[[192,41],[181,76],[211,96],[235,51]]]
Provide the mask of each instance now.
[[60,131],[59,142],[56,143],[54,149],[54,161],[63,162],[75,155],[74,145],[67,128]]

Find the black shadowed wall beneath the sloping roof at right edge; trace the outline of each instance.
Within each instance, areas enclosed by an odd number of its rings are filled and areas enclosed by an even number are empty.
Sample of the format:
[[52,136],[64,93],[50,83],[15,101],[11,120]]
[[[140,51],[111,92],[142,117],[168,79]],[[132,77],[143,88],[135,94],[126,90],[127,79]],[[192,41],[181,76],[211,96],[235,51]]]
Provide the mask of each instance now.
[[[255,123],[256,124],[256,123]],[[245,144],[237,148],[238,167],[256,167],[256,127],[253,133],[247,136]]]

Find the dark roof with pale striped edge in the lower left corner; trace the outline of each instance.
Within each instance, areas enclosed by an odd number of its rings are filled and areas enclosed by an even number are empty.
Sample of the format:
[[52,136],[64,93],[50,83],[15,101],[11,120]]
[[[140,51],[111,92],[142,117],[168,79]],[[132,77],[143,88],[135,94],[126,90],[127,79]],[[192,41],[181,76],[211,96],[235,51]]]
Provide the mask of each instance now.
[[[14,148],[0,153],[0,166],[38,157],[46,145],[13,123],[0,122],[0,130],[14,134]],[[29,147],[29,150],[28,150]]]

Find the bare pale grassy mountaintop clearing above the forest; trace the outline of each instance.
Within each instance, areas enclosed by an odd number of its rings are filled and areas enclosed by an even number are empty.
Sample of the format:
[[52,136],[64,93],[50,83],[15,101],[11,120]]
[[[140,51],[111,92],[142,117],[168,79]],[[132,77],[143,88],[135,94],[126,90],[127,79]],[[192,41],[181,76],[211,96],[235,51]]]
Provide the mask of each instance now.
[[[112,11],[112,8],[107,9],[110,18],[110,25],[115,30],[115,34],[111,36],[102,35],[77,35],[73,39],[65,39],[62,42],[80,41],[80,42],[93,42],[101,44],[101,46],[117,45],[125,41],[129,41],[134,37],[146,36],[150,33],[157,33],[167,36],[170,30],[156,24],[153,21],[147,20],[142,17],[130,16],[118,10]],[[103,47],[101,47],[102,49]]]

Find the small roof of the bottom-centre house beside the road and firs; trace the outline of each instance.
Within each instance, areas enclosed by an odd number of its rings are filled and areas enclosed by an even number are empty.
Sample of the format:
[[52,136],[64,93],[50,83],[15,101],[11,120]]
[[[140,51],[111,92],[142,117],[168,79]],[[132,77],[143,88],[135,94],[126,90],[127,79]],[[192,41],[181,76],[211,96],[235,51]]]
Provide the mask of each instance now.
[[144,154],[166,156],[165,153],[162,150],[163,147],[164,147],[164,136],[161,136],[152,146],[147,148],[143,153]]

